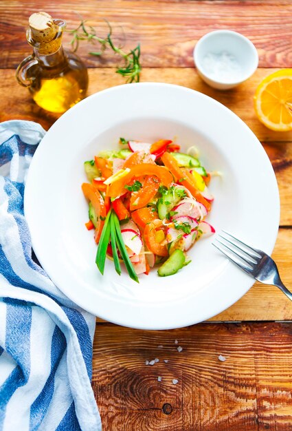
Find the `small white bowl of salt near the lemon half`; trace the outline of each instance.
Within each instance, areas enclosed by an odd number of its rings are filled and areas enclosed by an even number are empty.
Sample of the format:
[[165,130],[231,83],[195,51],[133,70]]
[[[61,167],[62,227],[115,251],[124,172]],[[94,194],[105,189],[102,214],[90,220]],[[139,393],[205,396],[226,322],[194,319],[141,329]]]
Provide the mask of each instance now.
[[205,83],[218,90],[228,90],[254,74],[258,52],[243,34],[215,30],[196,43],[194,64]]

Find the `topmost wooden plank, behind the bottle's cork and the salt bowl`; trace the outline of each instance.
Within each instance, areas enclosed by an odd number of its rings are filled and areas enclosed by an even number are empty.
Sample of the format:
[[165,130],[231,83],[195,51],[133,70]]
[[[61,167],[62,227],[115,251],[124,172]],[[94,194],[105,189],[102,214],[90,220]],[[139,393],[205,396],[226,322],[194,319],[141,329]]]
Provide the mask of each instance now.
[[[30,14],[45,10],[67,21],[67,28],[76,28],[78,14],[90,19],[98,34],[106,35],[103,19],[113,25],[115,41],[126,49],[142,46],[145,67],[190,67],[196,41],[216,29],[236,30],[249,37],[260,55],[260,67],[289,67],[292,63],[291,1],[155,1],[155,0],[46,0],[0,2],[1,46],[0,67],[16,67],[30,53],[25,29]],[[121,30],[124,29],[124,33]],[[69,43],[69,34],[65,35]],[[87,65],[115,65],[116,58],[88,56],[91,50],[82,45],[80,54]]]

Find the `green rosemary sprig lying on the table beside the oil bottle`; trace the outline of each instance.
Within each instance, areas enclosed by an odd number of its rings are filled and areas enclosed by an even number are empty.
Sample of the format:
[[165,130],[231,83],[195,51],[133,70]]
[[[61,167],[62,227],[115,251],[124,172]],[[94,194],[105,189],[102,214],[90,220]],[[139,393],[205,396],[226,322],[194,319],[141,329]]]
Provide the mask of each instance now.
[[122,50],[122,47],[113,43],[113,30],[111,25],[108,21],[104,21],[109,27],[109,33],[104,38],[98,36],[96,34],[96,29],[92,25],[87,25],[87,21],[84,19],[81,19],[81,22],[77,28],[74,30],[69,30],[69,33],[72,35],[70,44],[73,52],[78,50],[80,41],[88,41],[90,43],[100,44],[99,51],[89,52],[89,54],[93,56],[101,56],[104,54],[106,48],[110,48],[115,54],[120,55],[124,61],[124,65],[117,66],[117,70],[115,72],[124,76],[127,83],[138,83],[142,70],[142,66],[140,64],[140,45],[138,44],[133,50],[125,52]]

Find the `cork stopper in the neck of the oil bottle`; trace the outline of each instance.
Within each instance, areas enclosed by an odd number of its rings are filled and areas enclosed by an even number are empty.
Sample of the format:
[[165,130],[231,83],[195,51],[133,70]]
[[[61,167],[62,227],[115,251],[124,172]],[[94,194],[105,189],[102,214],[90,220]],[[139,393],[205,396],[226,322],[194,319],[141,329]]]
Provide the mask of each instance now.
[[57,52],[62,42],[64,21],[53,20],[47,12],[36,12],[30,15],[28,22],[27,40],[30,45],[43,55]]

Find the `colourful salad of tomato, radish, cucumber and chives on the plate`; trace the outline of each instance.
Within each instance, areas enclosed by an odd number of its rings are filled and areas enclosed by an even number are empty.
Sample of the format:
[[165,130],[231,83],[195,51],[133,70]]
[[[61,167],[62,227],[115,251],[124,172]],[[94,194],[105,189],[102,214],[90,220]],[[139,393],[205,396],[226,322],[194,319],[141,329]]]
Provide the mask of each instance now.
[[190,247],[215,232],[205,220],[214,200],[208,189],[211,174],[195,147],[184,154],[172,140],[124,138],[120,146],[84,163],[85,225],[98,244],[98,269],[104,273],[108,257],[118,274],[124,264],[137,282],[139,274],[155,266],[161,277],[175,274],[190,263]]

